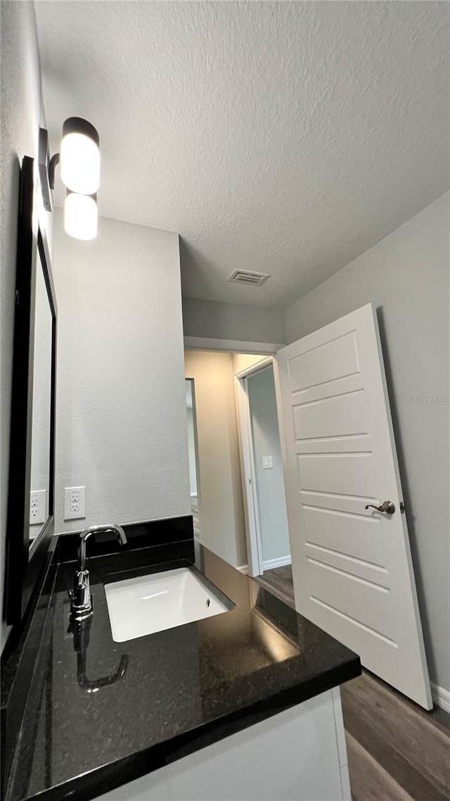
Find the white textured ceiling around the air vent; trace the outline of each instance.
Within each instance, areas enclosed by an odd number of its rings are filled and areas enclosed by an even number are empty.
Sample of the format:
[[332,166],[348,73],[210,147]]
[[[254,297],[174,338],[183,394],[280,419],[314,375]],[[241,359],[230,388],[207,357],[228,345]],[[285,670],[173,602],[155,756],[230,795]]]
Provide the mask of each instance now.
[[94,123],[100,213],[179,231],[187,296],[283,308],[448,187],[447,2],[36,6],[53,150]]

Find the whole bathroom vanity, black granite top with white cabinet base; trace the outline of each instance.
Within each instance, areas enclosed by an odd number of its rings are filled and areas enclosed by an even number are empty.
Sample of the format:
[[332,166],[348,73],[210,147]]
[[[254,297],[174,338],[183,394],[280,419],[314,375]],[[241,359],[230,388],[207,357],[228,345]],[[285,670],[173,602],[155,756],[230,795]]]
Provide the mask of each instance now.
[[[4,661],[3,734],[17,735],[6,801],[349,801],[339,685],[360,674],[356,654],[199,545],[190,517],[124,528],[122,549],[88,545],[94,615],[78,630],[67,594],[77,535],[54,538]],[[155,606],[167,576],[175,587],[186,571],[203,594]],[[162,630],[127,638],[120,614],[111,629],[118,587],[144,587],[131,605],[154,618],[170,609]],[[181,606],[191,622],[176,625]]]

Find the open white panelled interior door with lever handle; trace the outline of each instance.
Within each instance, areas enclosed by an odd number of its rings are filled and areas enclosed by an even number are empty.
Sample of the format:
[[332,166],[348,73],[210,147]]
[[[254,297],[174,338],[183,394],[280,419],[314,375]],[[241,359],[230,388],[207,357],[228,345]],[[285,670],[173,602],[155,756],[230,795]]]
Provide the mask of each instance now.
[[[295,606],[432,708],[376,315],[277,354]],[[392,501],[395,512],[366,509]]]

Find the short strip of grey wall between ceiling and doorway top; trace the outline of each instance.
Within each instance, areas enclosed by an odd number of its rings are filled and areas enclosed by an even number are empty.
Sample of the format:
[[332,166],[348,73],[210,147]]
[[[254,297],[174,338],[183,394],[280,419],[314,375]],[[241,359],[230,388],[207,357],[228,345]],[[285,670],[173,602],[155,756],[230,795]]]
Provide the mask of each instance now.
[[207,336],[219,340],[286,341],[280,309],[239,306],[215,300],[183,298],[183,329],[185,336]]

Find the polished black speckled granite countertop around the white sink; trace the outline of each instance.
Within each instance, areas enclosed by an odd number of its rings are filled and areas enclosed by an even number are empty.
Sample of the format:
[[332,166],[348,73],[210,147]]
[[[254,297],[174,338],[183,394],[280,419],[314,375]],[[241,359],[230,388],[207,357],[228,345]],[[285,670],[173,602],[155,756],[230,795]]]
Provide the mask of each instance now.
[[[105,582],[193,563],[233,609],[113,641]],[[69,630],[74,563],[55,570],[7,801],[94,799],[360,674],[352,651],[192,540],[88,567],[87,645]]]

